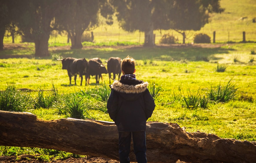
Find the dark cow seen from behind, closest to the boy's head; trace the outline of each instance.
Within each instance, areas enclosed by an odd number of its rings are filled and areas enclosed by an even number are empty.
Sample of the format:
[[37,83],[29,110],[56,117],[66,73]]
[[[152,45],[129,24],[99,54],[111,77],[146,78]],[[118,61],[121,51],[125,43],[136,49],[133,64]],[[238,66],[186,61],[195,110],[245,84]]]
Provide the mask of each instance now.
[[111,73],[113,73],[113,80],[115,80],[115,75],[118,74],[118,80],[121,76],[121,58],[119,57],[110,57],[107,61],[108,65],[108,77],[109,83],[111,78]]

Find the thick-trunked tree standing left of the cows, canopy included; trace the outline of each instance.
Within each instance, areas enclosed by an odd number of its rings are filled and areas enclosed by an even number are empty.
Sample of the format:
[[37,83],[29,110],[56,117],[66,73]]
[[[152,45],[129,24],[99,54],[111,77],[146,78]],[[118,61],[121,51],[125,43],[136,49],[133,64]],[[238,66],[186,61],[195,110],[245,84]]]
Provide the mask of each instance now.
[[54,16],[61,8],[61,1],[23,0],[25,12],[20,16],[17,27],[19,34],[35,43],[35,56],[47,57],[48,41],[54,26]]

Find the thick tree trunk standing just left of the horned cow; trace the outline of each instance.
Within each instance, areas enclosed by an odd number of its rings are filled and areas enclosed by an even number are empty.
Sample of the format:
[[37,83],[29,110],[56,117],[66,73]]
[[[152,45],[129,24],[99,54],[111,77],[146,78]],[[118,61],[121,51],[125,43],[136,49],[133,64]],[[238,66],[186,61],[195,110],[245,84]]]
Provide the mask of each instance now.
[[35,57],[49,57],[48,51],[48,41],[49,34],[40,34],[38,38],[35,39]]

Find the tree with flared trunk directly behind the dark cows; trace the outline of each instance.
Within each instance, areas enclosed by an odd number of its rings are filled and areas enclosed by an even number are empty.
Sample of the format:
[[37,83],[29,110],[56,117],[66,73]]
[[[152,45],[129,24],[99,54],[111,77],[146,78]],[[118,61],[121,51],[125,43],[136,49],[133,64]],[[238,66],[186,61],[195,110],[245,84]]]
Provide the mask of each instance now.
[[[66,0],[62,1],[64,6],[62,12],[56,16],[59,23],[59,29],[68,32],[71,40],[71,48],[82,48],[81,36],[85,30],[96,27],[98,22],[98,14],[112,19],[112,9],[107,0]],[[99,12],[100,11],[100,12]],[[112,22],[113,23],[113,22]]]

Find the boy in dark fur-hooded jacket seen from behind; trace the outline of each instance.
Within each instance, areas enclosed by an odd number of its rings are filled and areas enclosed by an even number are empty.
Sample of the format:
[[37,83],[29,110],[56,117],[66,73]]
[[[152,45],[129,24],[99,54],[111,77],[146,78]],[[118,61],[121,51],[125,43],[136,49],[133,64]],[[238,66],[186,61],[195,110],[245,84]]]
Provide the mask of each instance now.
[[110,85],[107,102],[110,118],[119,132],[119,160],[129,163],[131,136],[138,163],[146,163],[146,121],[155,108],[154,99],[148,91],[148,82],[135,78],[135,60],[129,56],[121,62],[123,75]]

